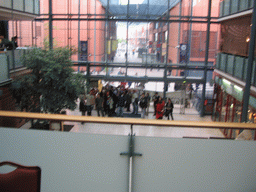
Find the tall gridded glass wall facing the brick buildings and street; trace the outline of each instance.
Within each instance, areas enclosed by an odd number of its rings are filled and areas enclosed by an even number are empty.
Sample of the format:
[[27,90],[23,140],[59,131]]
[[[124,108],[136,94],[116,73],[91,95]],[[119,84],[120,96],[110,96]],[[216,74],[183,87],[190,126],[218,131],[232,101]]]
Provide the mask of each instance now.
[[207,0],[42,0],[39,8],[35,20],[10,20],[9,37],[17,35],[19,47],[75,50],[74,69],[88,82],[186,82],[213,89],[217,0],[210,15]]

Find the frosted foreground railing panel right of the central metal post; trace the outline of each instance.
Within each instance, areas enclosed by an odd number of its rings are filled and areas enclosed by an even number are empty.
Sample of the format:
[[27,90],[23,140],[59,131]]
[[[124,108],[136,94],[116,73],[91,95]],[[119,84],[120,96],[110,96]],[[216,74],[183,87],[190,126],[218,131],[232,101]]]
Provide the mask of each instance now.
[[[256,169],[251,162],[256,155],[250,153],[248,157],[244,150],[249,144],[248,150],[256,151],[254,142],[162,137],[135,138],[135,151],[143,156],[135,157],[133,191],[205,191],[205,186],[216,191],[243,191],[244,185],[235,182],[237,178],[247,177],[248,174],[256,178]],[[244,159],[249,167],[246,163],[237,166]],[[223,166],[220,166],[220,162]],[[216,174],[220,174],[220,177],[215,177]],[[252,189],[253,180],[248,185]]]

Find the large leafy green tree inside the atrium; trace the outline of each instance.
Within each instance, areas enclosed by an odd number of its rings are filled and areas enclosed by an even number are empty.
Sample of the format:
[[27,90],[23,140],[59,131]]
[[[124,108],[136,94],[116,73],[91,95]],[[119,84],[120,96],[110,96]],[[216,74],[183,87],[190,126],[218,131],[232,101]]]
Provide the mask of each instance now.
[[23,64],[30,73],[15,82],[22,109],[60,113],[76,108],[77,98],[84,93],[85,79],[74,73],[71,55],[68,48],[33,48],[23,56]]

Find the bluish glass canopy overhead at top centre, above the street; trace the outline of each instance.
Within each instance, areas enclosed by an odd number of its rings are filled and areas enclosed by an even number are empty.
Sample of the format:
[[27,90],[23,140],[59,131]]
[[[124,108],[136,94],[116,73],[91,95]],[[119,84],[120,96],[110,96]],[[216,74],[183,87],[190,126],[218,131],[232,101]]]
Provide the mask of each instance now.
[[[109,14],[118,19],[129,18],[136,19],[156,19],[162,16],[168,10],[168,0],[144,0],[143,2],[137,0],[100,0],[105,8],[109,8]],[[135,3],[137,2],[137,3]],[[169,9],[174,7],[179,0],[169,0]],[[129,8],[128,8],[129,7]]]

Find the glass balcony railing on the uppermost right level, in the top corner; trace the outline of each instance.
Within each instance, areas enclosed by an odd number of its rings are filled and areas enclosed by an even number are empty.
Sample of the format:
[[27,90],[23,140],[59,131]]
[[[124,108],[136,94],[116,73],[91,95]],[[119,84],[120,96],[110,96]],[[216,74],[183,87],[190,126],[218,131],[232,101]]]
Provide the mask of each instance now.
[[225,17],[253,7],[253,0],[224,0],[220,2],[219,17]]

